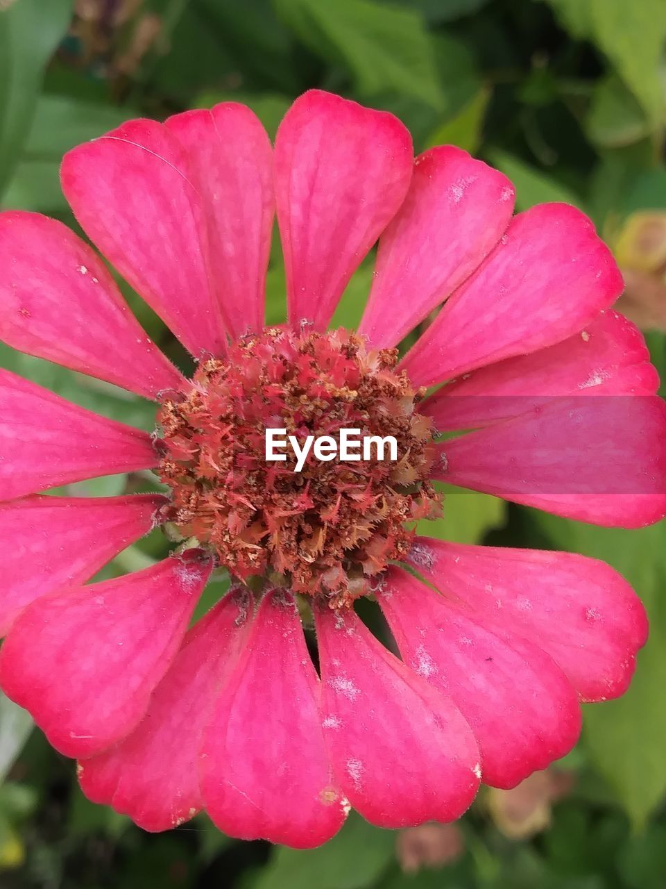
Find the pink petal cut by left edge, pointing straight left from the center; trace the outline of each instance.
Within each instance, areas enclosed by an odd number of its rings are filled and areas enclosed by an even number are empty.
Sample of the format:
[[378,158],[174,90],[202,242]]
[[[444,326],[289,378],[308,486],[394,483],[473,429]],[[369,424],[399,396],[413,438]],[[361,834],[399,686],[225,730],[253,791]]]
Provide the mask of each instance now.
[[145,432],[0,370],[0,500],[156,462]]

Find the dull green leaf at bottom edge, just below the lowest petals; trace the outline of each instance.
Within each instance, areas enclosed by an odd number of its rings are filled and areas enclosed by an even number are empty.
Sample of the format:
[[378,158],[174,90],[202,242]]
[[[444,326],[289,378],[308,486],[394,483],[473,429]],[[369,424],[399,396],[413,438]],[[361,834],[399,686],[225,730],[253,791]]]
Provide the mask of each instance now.
[[336,837],[299,852],[279,846],[256,889],[363,889],[374,885],[392,860],[394,835],[352,813]]

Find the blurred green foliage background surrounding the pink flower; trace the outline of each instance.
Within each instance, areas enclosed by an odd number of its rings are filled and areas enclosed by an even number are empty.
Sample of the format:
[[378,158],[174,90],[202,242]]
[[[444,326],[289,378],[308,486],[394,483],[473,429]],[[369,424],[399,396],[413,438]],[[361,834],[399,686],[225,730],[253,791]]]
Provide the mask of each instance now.
[[[452,142],[495,164],[515,182],[521,209],[565,200],[589,212],[624,271],[621,308],[666,376],[665,41],[666,0],[0,0],[0,205],[74,224],[58,168],[76,143],[131,116],[229,99],[274,133],[295,96],[322,87],[393,111],[417,149]],[[354,276],[337,323],[355,323],[353,297],[370,276],[368,264]],[[284,310],[282,280],[276,252],[271,322]],[[124,289],[154,339],[184,362]],[[0,364],[152,428],[150,405],[105,383],[4,347]],[[137,491],[148,481],[115,476],[67,491]],[[451,492],[435,533],[605,558],[646,603],[651,637],[630,693],[585,708],[582,741],[556,768],[516,791],[483,791],[454,827],[395,834],[352,817],[308,853],[235,842],[204,816],[151,836],[89,804],[74,765],[0,698],[0,885],[666,886],[666,525],[608,531]],[[152,535],[105,576],[165,551]]]

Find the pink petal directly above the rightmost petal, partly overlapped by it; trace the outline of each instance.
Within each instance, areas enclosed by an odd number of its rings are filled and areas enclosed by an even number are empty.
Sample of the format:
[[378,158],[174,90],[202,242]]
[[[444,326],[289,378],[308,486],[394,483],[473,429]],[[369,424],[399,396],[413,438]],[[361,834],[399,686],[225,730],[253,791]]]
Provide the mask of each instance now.
[[553,396],[654,395],[659,374],[638,328],[612,309],[556,346],[465,373],[421,405],[443,430],[486,426]]

